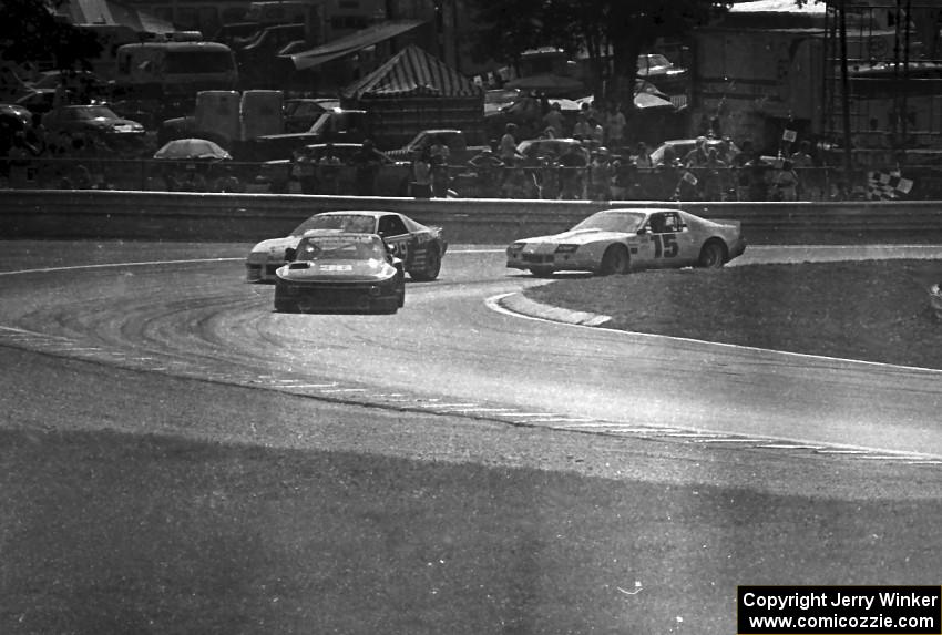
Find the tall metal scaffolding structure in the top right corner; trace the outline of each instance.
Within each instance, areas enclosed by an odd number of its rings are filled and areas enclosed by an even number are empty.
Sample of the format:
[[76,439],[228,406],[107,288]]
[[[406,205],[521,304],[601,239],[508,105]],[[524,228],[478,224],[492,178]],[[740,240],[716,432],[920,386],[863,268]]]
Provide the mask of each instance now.
[[942,0],[827,4],[820,130],[841,163],[942,163]]

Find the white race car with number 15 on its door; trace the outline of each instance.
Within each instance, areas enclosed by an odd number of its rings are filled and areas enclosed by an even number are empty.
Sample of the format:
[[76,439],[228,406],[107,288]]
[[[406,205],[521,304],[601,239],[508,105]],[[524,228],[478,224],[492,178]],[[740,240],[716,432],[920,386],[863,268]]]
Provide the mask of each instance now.
[[535,276],[718,268],[745,249],[738,221],[707,221],[680,209],[605,209],[562,234],[516,240],[506,248],[506,266]]

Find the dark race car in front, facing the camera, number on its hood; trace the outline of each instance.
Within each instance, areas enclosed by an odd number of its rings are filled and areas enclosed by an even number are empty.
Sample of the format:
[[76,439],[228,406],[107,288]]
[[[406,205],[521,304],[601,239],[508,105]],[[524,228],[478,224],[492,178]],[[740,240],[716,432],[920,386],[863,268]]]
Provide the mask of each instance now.
[[396,313],[406,304],[406,274],[377,234],[313,234],[275,273],[275,310]]

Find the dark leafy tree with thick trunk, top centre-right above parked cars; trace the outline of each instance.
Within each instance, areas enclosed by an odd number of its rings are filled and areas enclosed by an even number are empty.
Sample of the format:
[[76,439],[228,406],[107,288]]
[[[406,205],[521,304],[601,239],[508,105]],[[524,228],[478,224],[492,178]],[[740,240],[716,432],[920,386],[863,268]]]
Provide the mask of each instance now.
[[[471,1],[482,24],[479,53],[515,61],[534,47],[585,51],[594,81],[607,80],[608,92],[615,94],[633,90],[637,57],[658,38],[683,35],[730,4],[725,0]],[[605,63],[608,55],[611,66]]]

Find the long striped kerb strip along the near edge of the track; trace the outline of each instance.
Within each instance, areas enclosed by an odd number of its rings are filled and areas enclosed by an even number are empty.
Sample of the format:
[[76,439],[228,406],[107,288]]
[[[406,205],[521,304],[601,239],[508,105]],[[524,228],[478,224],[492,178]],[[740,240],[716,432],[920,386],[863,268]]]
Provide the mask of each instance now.
[[533,412],[487,401],[447,401],[436,397],[409,392],[382,392],[370,386],[340,383],[311,377],[258,373],[250,369],[234,369],[221,373],[198,360],[161,358],[158,354],[133,354],[89,346],[78,339],[51,336],[20,328],[0,326],[0,346],[20,348],[54,357],[115,366],[142,372],[160,372],[212,383],[226,383],[247,388],[272,390],[335,403],[349,403],[368,408],[383,408],[402,412],[422,412],[508,426],[540,428],[553,431],[596,437],[632,438],[639,440],[702,444],[704,447],[750,449],[762,452],[800,453],[825,457],[829,460],[887,461],[897,464],[942,467],[942,457],[914,452],[891,452],[870,448],[856,448],[806,441],[750,437],[679,427],[626,424],[574,417],[560,412]]

